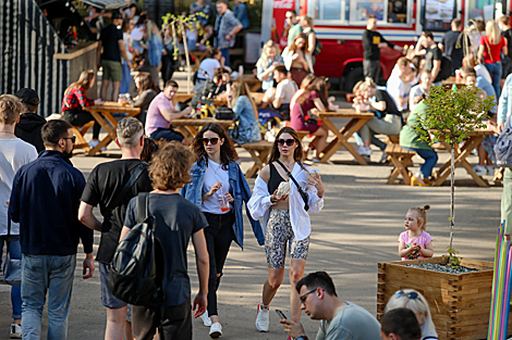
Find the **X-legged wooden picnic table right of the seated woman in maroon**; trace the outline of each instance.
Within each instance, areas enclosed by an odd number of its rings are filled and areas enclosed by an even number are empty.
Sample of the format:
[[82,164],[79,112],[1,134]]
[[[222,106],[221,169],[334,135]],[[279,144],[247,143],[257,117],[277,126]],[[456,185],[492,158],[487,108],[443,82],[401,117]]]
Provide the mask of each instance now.
[[[320,163],[327,163],[329,159],[341,148],[345,147],[361,165],[367,165],[365,159],[349,142],[349,138],[356,133],[365,123],[374,117],[371,112],[357,112],[354,109],[339,109],[337,111],[324,111],[318,114],[322,125],[331,130],[336,138],[324,149]],[[350,118],[349,123],[338,129],[331,118]]]

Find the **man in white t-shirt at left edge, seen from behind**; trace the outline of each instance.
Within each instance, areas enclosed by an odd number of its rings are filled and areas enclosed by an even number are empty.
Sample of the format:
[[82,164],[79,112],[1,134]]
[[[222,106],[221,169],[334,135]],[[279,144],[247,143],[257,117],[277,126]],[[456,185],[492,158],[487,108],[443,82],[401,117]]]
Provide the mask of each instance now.
[[[34,146],[21,140],[14,135],[14,128],[20,122],[22,112],[21,101],[11,95],[0,96],[0,254],[8,235],[8,201],[11,197],[12,181],[17,169],[37,158]],[[22,259],[20,247],[20,225],[11,223],[9,253],[11,259]],[[2,257],[0,255],[0,267]],[[11,338],[22,338],[22,297],[21,286],[11,287],[12,325]]]

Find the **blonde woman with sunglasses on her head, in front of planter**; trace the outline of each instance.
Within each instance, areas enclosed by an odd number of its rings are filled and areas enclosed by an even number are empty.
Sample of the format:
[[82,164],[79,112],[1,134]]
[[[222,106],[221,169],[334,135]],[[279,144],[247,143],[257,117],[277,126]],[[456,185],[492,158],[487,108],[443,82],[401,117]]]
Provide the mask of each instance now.
[[398,290],[386,304],[385,313],[395,308],[409,308],[414,312],[422,328],[422,340],[438,340],[427,299],[414,289]]

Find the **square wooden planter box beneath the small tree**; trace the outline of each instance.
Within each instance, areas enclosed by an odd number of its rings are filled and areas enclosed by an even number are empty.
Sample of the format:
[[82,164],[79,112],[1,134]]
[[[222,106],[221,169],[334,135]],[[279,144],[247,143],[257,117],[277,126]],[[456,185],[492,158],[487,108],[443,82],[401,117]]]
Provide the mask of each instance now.
[[[405,266],[447,262],[448,257],[442,256],[379,263],[377,318],[381,319],[386,303],[397,290],[412,288],[427,299],[440,340],[486,339],[492,289],[492,262],[463,259],[463,266],[480,270],[466,274]],[[511,331],[512,323],[509,322],[509,335]]]

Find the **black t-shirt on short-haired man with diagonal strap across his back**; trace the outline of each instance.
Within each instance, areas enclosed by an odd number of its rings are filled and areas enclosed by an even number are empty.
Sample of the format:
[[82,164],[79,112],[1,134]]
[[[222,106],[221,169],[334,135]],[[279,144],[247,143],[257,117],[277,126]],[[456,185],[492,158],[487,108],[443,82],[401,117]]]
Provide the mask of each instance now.
[[147,171],[144,171],[137,181],[132,186],[121,204],[117,206],[109,216],[105,216],[106,210],[119,193],[124,185],[130,180],[135,169],[142,163],[141,160],[118,160],[97,165],[89,175],[81,201],[96,206],[103,215],[101,226],[101,240],[99,242],[96,260],[102,263],[110,263],[115,247],[119,243],[119,236],[123,227],[126,206],[130,200],[138,192],[149,192],[153,190],[151,180]]

